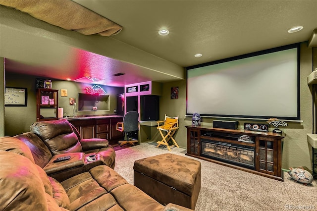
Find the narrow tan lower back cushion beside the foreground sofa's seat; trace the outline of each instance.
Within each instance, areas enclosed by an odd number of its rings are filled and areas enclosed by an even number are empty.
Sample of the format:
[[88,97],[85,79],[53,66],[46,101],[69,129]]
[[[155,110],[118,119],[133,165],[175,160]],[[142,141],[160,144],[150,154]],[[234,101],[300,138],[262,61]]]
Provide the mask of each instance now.
[[53,177],[48,177],[53,187],[53,199],[61,208],[69,209],[70,201],[63,186]]

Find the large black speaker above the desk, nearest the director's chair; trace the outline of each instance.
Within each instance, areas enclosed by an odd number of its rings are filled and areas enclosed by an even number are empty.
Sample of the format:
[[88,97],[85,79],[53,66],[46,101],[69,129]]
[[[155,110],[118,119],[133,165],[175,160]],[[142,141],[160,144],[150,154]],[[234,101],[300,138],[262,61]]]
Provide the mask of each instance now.
[[141,96],[142,115],[141,120],[157,121],[159,120],[159,96],[143,95]]

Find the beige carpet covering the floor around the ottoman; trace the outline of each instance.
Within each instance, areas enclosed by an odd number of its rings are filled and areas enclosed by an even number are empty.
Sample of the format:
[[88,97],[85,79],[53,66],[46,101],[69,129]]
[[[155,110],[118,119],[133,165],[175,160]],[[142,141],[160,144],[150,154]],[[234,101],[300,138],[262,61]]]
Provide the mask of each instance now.
[[[116,151],[114,169],[133,184],[134,160],[169,153],[166,148],[155,146],[149,142]],[[172,148],[170,153],[185,156],[186,150]],[[316,179],[305,186],[292,180],[286,172],[284,182],[280,182],[197,160],[202,163],[202,187],[195,211],[317,211]]]

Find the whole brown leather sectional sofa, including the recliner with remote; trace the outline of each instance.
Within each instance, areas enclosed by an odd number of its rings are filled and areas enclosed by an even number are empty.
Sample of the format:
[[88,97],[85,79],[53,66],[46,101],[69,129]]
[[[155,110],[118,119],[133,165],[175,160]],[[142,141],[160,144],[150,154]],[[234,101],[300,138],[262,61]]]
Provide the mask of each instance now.
[[[114,155],[107,141],[77,137],[79,144],[75,143],[74,130],[48,126],[68,128],[64,120],[56,121],[36,122],[32,132],[0,137],[1,211],[191,211],[175,204],[163,206],[128,184],[111,168]],[[55,158],[66,154],[69,160],[53,166]],[[92,154],[97,159],[90,162],[87,156]]]

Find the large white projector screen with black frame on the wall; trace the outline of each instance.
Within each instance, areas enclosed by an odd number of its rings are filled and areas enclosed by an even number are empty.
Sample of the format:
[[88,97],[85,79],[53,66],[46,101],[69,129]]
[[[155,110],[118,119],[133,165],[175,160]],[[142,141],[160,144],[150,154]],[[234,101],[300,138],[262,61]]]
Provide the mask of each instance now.
[[299,44],[186,69],[187,115],[300,120]]

